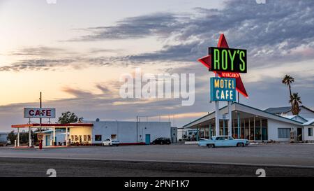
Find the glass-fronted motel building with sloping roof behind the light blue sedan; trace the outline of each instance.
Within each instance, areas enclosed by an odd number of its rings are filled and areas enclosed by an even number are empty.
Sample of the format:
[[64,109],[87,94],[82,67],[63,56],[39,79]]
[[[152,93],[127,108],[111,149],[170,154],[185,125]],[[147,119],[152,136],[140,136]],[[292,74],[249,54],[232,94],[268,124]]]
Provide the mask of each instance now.
[[[291,107],[267,108],[261,110],[244,104],[233,102],[232,137],[250,141],[314,141],[314,111],[300,106],[299,115],[292,115]],[[227,106],[220,108],[218,114],[226,116]],[[197,129],[196,140],[208,139],[216,135],[215,112],[198,118],[185,129]],[[227,135],[227,120],[219,120],[219,134]],[[292,137],[290,137],[292,135]],[[293,140],[292,140],[293,139]]]

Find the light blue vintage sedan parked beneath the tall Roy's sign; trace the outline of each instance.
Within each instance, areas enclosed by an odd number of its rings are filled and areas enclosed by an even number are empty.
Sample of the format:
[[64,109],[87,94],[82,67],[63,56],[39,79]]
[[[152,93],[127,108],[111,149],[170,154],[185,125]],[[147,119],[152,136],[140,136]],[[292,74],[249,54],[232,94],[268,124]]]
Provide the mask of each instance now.
[[214,147],[244,147],[248,146],[248,139],[233,139],[232,136],[213,136],[209,140],[198,141],[198,146]]

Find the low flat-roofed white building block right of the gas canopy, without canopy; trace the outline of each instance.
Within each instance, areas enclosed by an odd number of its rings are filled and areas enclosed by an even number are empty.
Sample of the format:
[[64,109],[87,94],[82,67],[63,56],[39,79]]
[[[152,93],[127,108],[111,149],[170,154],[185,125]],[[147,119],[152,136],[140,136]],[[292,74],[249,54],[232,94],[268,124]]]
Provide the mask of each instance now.
[[100,144],[106,139],[118,139],[120,143],[146,143],[158,137],[170,138],[170,122],[85,121],[92,127],[70,128],[70,142]]

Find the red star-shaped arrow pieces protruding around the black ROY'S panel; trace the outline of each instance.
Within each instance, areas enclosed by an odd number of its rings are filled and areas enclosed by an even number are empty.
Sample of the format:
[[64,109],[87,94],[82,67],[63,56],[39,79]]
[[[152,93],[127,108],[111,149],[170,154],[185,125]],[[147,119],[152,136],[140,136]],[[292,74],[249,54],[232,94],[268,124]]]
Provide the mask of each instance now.
[[[218,41],[218,48],[229,48],[227,40],[225,39],[225,35],[220,34]],[[200,59],[197,59],[199,62],[204,64],[209,70],[211,69],[211,55],[207,55]],[[246,93],[246,88],[241,80],[241,76],[239,72],[225,72],[225,71],[213,71],[217,73],[220,78],[235,78],[236,79],[236,89],[238,92],[244,95],[244,97],[248,98],[248,94]]]

